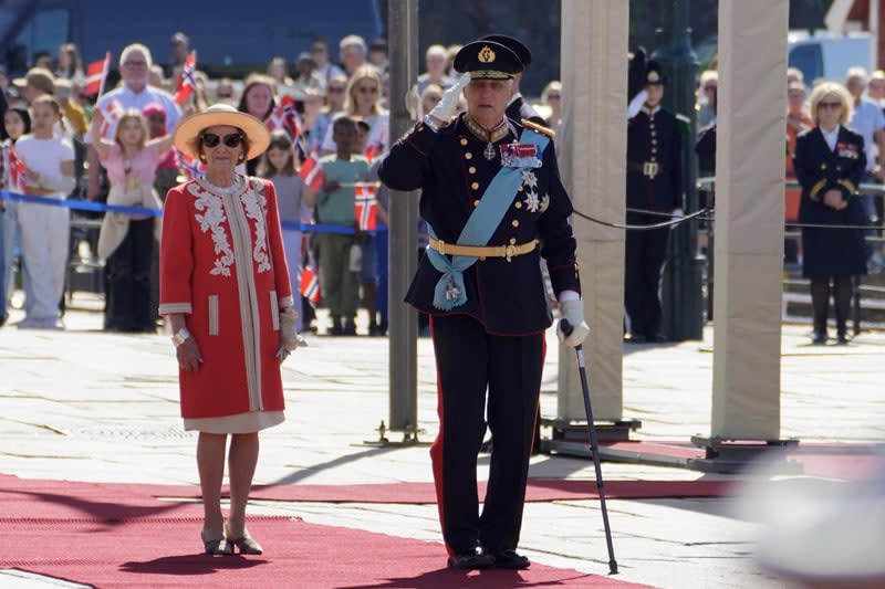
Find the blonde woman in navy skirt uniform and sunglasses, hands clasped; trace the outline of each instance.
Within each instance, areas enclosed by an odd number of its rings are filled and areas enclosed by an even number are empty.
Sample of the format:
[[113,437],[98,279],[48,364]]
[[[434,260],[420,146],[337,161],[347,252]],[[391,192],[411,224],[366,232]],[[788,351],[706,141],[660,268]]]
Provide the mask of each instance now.
[[[811,115],[818,125],[796,138],[793,168],[802,186],[799,222],[824,225],[864,225],[868,220],[857,198],[866,169],[864,139],[844,127],[852,99],[833,82],[811,93]],[[852,276],[866,274],[861,229],[802,228],[802,274],[811,280],[814,344],[826,343],[826,316],[832,292],[836,337],[847,344],[845,324],[851,307]]]

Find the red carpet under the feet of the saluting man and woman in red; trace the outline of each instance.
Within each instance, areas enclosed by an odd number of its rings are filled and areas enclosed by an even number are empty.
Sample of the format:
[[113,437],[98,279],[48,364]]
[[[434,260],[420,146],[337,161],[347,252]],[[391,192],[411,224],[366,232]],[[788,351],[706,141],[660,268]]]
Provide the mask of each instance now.
[[250,518],[263,556],[209,557],[200,554],[200,505],[162,503],[138,488],[0,477],[0,568],[103,588],[642,587],[604,576],[603,564],[598,576],[537,564],[465,574],[444,568],[441,544],[285,517]]

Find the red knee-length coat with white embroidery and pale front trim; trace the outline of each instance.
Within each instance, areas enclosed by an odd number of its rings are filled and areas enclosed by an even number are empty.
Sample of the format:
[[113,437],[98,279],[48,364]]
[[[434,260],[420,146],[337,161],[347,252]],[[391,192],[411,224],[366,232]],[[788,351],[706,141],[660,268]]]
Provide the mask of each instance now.
[[169,190],[160,242],[163,315],[185,314],[202,355],[179,370],[181,416],[281,411],[279,309],[292,305],[273,185],[233,194],[191,180]]

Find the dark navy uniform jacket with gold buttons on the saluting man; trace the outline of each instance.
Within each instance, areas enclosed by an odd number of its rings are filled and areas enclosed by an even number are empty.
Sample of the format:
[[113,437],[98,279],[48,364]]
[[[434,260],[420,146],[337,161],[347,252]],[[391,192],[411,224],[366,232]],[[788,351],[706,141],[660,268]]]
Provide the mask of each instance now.
[[[510,133],[496,143],[496,157],[488,161],[483,157],[487,143],[467,128],[464,116],[437,133],[419,123],[391,148],[378,170],[382,181],[395,190],[421,189],[421,217],[447,243],[458,241],[475,203],[501,169],[498,147],[516,141],[523,128],[510,122]],[[434,288],[441,274],[424,256],[407,303],[433,315],[468,314],[491,334],[531,334],[551,325],[539,255],[546,260],[556,294],[564,290],[580,293],[580,282],[569,222],[572,203],[560,181],[552,140],[540,159],[542,166],[532,170],[538,186],[523,183],[506,197],[512,198],[512,204],[488,243],[523,244],[539,239],[539,249],[510,262],[503,257],[478,260],[464,273],[467,303],[449,312],[434,307]],[[538,202],[532,202],[530,193],[537,194]]]

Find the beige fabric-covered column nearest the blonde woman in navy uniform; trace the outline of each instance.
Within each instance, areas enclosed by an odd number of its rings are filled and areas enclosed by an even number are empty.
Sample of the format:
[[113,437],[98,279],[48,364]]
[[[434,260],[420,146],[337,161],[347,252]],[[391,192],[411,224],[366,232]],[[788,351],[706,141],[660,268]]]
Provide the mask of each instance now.
[[788,12],[719,0],[712,437],[780,437]]

